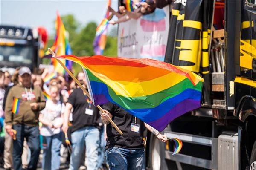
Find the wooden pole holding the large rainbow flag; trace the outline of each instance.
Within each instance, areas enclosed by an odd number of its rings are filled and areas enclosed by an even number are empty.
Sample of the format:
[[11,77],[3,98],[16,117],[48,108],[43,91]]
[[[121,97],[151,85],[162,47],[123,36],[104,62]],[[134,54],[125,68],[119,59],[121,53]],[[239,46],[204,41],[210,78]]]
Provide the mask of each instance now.
[[[52,54],[52,56],[55,56],[55,53],[52,51],[52,49],[48,48],[48,51]],[[76,82],[76,84],[79,85],[79,87],[83,90],[83,92],[88,96],[88,98],[90,98],[89,93],[87,92],[86,89],[84,89],[84,87],[81,85],[81,83],[76,79],[76,77],[70,72],[69,69],[67,69],[67,67],[64,65],[64,63],[62,63],[58,58],[55,58],[58,63],[61,64],[61,66],[66,70],[66,72],[71,76],[71,78],[73,78],[73,80]],[[91,98],[90,98],[91,99]],[[97,105],[96,107],[98,107],[98,109],[101,112],[104,112],[102,107],[100,107],[99,105]],[[108,117],[108,121],[112,124],[112,126],[120,133],[120,135],[122,135],[122,131],[116,126],[116,124],[112,121],[112,119],[110,117]]]

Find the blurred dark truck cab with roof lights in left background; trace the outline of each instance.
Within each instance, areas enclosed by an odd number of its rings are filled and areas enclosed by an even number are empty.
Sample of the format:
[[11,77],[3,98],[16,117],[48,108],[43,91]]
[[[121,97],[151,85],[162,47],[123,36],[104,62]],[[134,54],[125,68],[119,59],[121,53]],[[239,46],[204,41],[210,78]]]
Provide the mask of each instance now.
[[38,34],[29,27],[0,26],[0,67],[38,67]]

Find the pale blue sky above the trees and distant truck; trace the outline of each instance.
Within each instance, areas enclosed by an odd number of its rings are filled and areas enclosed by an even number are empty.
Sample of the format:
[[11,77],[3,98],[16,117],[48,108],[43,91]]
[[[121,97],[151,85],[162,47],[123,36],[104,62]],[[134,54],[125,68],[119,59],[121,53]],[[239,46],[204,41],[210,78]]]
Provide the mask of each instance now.
[[[112,7],[117,9],[117,0]],[[56,12],[73,14],[82,26],[90,21],[99,23],[104,16],[107,0],[0,0],[1,24],[44,26],[48,34],[55,33]]]

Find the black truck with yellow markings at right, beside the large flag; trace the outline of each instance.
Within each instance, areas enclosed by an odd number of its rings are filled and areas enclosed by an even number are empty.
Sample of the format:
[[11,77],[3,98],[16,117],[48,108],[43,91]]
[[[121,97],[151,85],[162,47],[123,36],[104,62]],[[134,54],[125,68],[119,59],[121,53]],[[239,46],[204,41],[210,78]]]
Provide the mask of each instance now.
[[[255,26],[254,26],[255,25]],[[256,170],[256,1],[174,0],[165,62],[204,78],[202,107],[148,133],[150,170]]]

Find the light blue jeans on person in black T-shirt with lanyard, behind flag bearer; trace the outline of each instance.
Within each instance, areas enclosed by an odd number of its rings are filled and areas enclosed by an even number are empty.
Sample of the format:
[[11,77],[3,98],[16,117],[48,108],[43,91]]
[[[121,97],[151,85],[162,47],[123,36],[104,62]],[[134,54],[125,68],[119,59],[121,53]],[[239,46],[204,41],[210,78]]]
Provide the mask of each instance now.
[[93,126],[83,127],[71,133],[72,153],[69,170],[78,170],[81,156],[86,146],[87,169],[96,170],[99,148],[99,129]]

